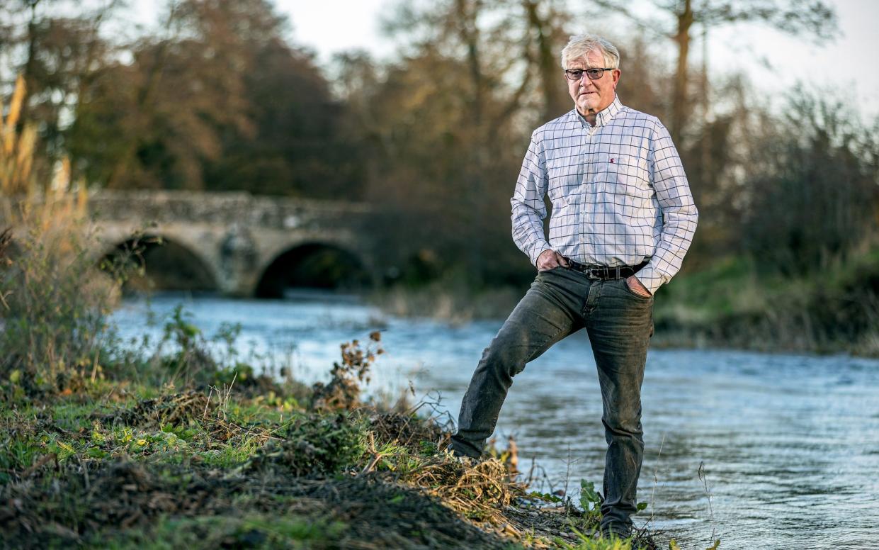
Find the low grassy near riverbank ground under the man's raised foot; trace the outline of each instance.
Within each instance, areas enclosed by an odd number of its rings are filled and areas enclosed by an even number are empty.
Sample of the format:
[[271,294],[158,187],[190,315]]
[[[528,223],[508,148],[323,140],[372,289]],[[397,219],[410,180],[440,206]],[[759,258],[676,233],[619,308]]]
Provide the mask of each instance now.
[[656,547],[589,539],[595,495],[530,492],[515,451],[450,457],[426,407],[361,402],[378,338],[311,387],[200,346],[127,378],[72,372],[56,392],[4,373],[2,546]]

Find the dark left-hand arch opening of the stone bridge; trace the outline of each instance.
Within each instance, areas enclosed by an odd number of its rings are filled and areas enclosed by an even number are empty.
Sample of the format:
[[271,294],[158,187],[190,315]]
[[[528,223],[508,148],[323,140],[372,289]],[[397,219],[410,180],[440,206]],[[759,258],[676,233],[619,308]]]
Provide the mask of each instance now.
[[219,281],[198,247],[174,235],[148,234],[117,239],[105,260],[127,260],[143,268],[124,285],[126,291],[188,290],[214,292]]

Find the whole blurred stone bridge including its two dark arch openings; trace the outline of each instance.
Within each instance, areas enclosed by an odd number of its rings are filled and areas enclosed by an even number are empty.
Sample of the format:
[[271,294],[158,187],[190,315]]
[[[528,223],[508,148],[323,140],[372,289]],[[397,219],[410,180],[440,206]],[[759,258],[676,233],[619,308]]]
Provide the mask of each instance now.
[[176,274],[160,288],[279,297],[290,286],[356,287],[381,276],[367,230],[375,212],[363,203],[100,191],[90,195],[89,210],[105,254],[130,245],[135,235],[146,237],[148,274]]

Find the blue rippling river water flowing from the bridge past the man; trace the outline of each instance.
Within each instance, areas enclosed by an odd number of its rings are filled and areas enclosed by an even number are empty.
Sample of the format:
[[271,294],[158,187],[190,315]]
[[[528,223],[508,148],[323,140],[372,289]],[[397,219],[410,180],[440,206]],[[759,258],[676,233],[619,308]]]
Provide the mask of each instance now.
[[[328,378],[338,344],[381,329],[386,355],[370,392],[439,400],[457,414],[483,348],[502,320],[449,326],[396,319],[352,297],[300,293],[278,301],[158,295],[127,300],[123,335],[159,334],[148,311],[177,304],[206,334],[242,327],[239,348]],[[585,333],[559,342],[516,377],[498,422],[520,469],[543,490],[601,485],[605,442]],[[683,548],[879,547],[879,361],[849,356],[651,349],[643,385],[644,463],[638,500]],[[665,543],[663,543],[665,545]]]

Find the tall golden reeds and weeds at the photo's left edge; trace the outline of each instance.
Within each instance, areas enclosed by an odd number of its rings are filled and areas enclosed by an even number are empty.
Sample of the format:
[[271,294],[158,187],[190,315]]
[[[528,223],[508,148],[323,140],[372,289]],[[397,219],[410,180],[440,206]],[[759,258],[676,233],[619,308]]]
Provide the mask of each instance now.
[[24,85],[18,80],[3,126],[0,168],[4,247],[14,250],[0,266],[0,380],[39,391],[60,391],[76,379],[94,378],[102,348],[112,337],[105,316],[126,276],[119,266],[98,272],[98,246],[86,217],[86,194],[72,185],[65,159],[45,190],[30,172],[37,148],[33,124],[16,131]]

